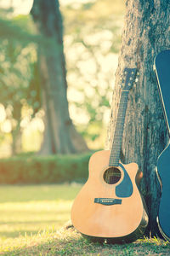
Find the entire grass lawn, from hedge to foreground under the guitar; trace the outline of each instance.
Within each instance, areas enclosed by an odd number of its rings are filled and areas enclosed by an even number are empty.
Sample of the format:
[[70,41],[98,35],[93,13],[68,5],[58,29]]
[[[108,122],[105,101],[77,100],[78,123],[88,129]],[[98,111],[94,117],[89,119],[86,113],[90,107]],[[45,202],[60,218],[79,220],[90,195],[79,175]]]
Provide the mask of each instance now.
[[87,241],[65,226],[81,185],[0,186],[0,254],[170,255],[161,239],[108,245]]

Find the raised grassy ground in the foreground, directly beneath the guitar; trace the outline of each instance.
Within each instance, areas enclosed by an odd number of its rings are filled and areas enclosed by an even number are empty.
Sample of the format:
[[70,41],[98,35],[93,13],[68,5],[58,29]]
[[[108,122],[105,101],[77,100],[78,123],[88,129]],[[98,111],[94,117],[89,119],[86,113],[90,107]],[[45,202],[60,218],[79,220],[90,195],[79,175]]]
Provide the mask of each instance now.
[[[32,244],[32,242],[31,242]],[[169,255],[170,243],[161,239],[139,240],[130,244],[99,244],[86,240],[74,229],[43,234],[34,245],[18,247],[4,255]]]

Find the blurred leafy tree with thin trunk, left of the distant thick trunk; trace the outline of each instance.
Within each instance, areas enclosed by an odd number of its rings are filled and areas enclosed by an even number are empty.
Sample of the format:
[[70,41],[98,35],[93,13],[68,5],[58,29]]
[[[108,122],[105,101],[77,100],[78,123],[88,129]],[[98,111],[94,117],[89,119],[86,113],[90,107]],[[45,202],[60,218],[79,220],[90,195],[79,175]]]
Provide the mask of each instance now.
[[[22,122],[23,112],[31,110],[33,116],[39,107],[38,90],[31,86],[36,65],[33,44],[37,43],[38,37],[29,32],[29,16],[8,20],[4,17],[8,12],[1,10],[0,14],[1,132],[11,135],[12,154],[16,154],[22,150],[21,132],[25,126]],[[1,138],[5,140],[6,137]]]

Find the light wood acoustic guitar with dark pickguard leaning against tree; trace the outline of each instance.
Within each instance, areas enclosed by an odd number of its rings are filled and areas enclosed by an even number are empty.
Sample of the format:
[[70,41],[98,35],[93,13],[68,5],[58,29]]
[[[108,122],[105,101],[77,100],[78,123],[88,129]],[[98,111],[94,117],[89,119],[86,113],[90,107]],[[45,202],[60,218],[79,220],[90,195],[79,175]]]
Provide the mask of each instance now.
[[91,156],[88,181],[71,209],[74,227],[93,241],[134,241],[148,224],[137,185],[142,172],[136,163],[120,161],[128,93],[135,76],[135,68],[125,68],[112,148]]

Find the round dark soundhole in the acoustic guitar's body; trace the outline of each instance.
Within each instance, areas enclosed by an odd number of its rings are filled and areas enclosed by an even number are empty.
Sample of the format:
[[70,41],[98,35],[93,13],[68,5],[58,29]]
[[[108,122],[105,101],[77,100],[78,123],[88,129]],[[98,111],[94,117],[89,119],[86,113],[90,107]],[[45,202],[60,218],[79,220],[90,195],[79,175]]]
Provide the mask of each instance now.
[[108,168],[104,173],[105,183],[116,184],[121,178],[121,172],[116,167]]

